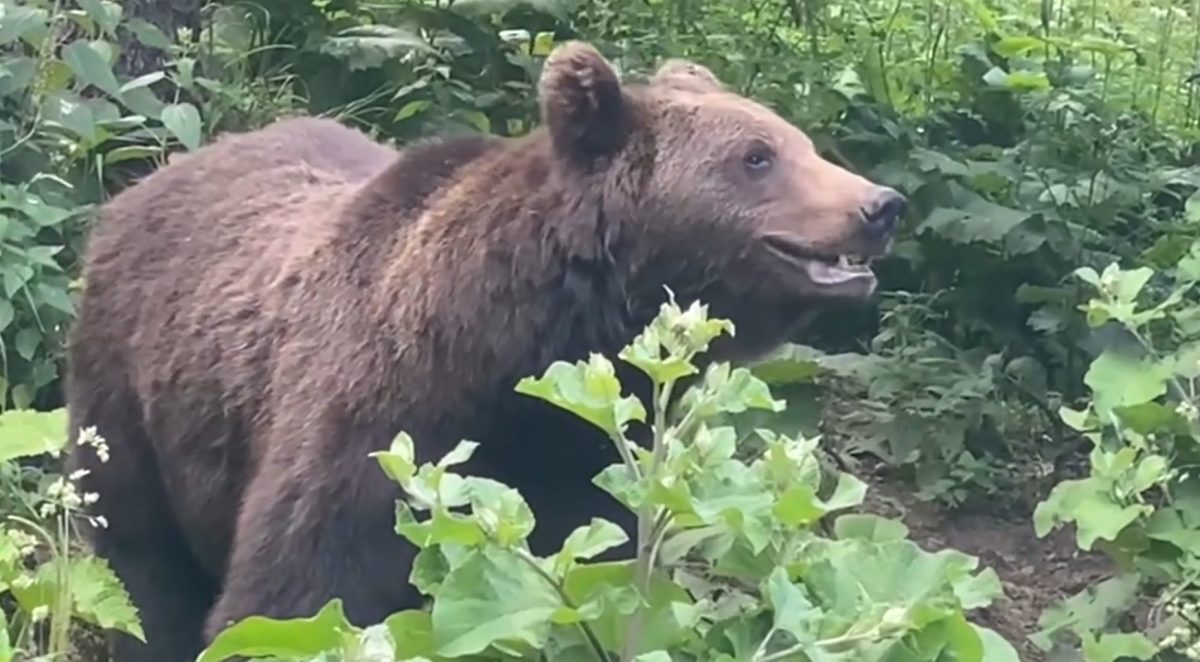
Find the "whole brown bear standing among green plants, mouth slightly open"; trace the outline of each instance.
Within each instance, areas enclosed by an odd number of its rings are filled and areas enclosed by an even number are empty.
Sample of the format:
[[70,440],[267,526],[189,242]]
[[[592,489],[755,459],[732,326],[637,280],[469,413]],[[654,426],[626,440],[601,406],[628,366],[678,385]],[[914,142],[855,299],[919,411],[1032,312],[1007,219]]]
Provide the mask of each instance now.
[[[149,643],[184,662],[251,614],[341,597],[356,624],[420,604],[401,496],[368,453],[480,443],[463,471],[518,488],[550,553],[625,513],[587,423],[517,395],[552,361],[612,355],[670,288],[732,319],[721,356],[869,296],[904,198],[690,62],[622,83],[583,43],[540,79],[544,126],[398,154],[332,121],[226,136],[103,207],[71,333],[73,462]],[[714,354],[716,356],[716,354]]]

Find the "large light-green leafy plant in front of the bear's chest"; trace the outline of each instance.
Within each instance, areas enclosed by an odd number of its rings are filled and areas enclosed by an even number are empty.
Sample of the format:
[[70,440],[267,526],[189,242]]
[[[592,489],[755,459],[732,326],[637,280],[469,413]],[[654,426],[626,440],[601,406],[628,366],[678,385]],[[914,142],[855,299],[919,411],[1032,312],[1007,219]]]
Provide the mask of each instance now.
[[[760,429],[763,449],[738,457],[738,435],[720,421],[784,403],[746,368],[715,363],[701,374],[696,356],[733,332],[702,305],[665,303],[619,355],[650,378],[648,405],[623,395],[613,365],[595,354],[517,385],[612,439],[619,462],[595,483],[637,512],[636,559],[588,562],[628,540],[604,519],[576,529],[557,554],[533,555],[535,519],[521,495],[452,471],[473,443],[419,465],[401,433],[373,457],[406,494],[396,530],[420,549],[410,580],[432,607],[367,628],[347,622],[336,600],[307,619],[251,616],[200,661],[1015,660],[965,618],[1001,592],[974,558],[925,552],[902,524],[876,516],[841,514],[833,537],[822,535],[827,517],[859,505],[866,487],[822,471],[818,439]],[[690,375],[701,380],[673,397]],[[648,449],[628,438],[641,422],[653,429]]]

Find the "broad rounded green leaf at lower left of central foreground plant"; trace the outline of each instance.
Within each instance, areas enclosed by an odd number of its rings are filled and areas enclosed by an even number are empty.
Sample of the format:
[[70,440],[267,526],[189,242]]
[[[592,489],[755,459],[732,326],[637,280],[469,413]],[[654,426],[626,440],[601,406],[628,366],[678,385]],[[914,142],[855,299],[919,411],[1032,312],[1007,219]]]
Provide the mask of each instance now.
[[480,654],[493,644],[539,648],[560,607],[558,591],[516,553],[473,550],[450,571],[433,603],[434,648],[448,657]]

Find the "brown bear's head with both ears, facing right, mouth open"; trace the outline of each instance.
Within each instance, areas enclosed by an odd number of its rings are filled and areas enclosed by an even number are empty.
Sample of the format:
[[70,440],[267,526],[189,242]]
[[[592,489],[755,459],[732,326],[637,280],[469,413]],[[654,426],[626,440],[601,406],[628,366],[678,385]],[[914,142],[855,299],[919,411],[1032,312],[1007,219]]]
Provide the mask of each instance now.
[[540,95],[554,168],[590,180],[599,236],[635,305],[656,308],[664,285],[702,299],[737,323],[740,351],[757,353],[814,305],[874,293],[869,263],[889,247],[905,198],[822,158],[707,68],[670,60],[623,84],[593,47],[570,42],[547,59]]

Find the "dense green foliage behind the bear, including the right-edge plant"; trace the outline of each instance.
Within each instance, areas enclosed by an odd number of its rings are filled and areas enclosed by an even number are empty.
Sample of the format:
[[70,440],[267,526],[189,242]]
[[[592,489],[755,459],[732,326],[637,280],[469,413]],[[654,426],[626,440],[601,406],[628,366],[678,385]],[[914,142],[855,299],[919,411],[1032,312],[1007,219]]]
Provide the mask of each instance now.
[[[912,201],[877,305],[756,368],[792,403],[772,426],[814,432],[832,407],[829,451],[922,498],[1078,525],[1121,574],[1046,645],[1098,655],[1129,626],[1188,650],[1200,0],[220,0],[175,34],[110,0],[0,12],[5,409],[61,407],[88,222],[169,151],[295,113],[397,145],[516,136],[554,42],[630,74],[692,58]],[[161,67],[124,71],[130,49]],[[50,480],[0,457],[14,494]]]

